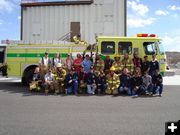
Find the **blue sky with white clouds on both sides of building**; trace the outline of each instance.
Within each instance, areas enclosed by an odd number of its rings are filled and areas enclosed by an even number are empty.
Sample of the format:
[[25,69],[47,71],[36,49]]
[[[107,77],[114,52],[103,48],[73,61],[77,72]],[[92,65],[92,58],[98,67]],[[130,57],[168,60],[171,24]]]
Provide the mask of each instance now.
[[[20,39],[20,0],[0,0],[0,40]],[[127,0],[127,36],[153,33],[180,52],[180,0]]]

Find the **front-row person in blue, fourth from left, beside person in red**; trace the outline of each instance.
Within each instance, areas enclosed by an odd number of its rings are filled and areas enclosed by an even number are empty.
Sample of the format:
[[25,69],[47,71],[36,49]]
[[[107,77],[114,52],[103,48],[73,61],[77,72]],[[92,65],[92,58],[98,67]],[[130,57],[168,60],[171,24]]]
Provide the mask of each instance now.
[[67,94],[71,95],[74,93],[75,95],[78,94],[78,75],[74,68],[69,70],[69,73],[66,76],[66,86],[67,86]]

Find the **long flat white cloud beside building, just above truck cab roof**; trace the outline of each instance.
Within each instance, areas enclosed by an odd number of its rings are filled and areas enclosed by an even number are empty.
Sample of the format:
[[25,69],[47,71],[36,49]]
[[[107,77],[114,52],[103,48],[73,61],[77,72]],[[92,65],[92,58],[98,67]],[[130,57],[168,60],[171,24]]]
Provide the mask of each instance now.
[[127,19],[127,24],[130,28],[139,28],[139,27],[144,27],[147,25],[151,25],[152,23],[155,22],[155,18],[128,18]]

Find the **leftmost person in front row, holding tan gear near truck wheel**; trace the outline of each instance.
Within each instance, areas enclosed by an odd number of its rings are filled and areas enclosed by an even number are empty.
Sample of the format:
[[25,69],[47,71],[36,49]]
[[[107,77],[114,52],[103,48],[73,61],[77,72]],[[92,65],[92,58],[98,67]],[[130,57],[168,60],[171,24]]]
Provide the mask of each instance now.
[[36,67],[33,73],[33,78],[32,82],[29,84],[29,90],[36,90],[40,91],[41,90],[41,85],[42,85],[42,77],[40,74],[39,67]]

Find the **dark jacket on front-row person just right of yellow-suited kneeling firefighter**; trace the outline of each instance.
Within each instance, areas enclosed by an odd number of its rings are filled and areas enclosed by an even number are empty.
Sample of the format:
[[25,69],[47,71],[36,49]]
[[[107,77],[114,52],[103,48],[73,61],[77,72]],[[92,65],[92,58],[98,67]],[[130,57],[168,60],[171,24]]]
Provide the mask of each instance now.
[[130,87],[130,76],[122,74],[120,77],[120,87]]

